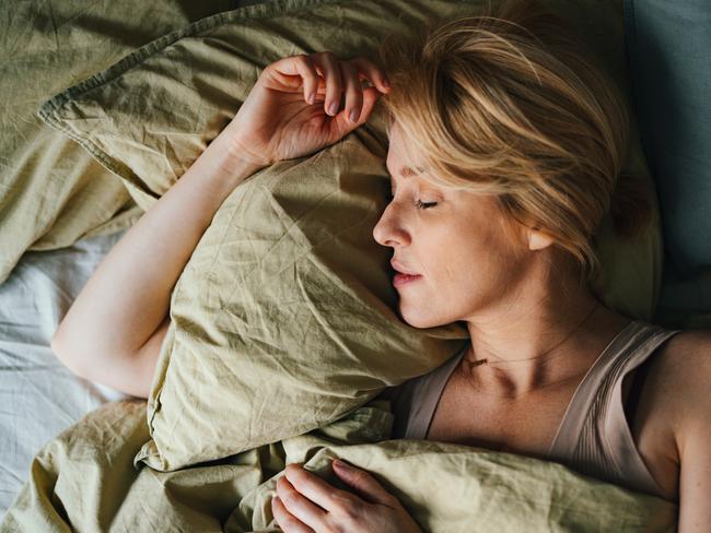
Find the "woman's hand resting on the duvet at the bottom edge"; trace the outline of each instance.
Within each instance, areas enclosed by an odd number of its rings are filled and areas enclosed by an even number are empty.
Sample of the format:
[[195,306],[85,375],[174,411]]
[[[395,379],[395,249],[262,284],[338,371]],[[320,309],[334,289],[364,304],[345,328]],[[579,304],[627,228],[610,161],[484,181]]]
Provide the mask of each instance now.
[[334,472],[353,493],[340,490],[301,465],[287,465],[271,510],[288,533],[421,533],[398,499],[366,471],[334,461]]

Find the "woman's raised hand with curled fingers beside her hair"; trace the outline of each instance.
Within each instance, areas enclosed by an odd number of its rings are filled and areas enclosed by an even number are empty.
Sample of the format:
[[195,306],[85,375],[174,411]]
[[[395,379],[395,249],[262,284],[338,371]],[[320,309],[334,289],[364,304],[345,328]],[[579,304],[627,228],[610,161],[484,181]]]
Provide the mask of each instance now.
[[[361,80],[373,86],[363,88]],[[385,74],[363,57],[341,61],[329,51],[287,57],[261,71],[220,137],[235,157],[260,167],[301,157],[364,123],[388,91]]]

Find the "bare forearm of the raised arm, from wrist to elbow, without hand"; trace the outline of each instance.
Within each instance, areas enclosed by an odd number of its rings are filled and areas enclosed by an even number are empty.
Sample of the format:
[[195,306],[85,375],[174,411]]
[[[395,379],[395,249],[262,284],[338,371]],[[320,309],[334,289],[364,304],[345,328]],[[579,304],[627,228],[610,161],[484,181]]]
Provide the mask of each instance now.
[[53,344],[110,357],[135,353],[148,341],[167,315],[173,287],[215,212],[259,169],[230,155],[224,142],[218,137],[116,244]]

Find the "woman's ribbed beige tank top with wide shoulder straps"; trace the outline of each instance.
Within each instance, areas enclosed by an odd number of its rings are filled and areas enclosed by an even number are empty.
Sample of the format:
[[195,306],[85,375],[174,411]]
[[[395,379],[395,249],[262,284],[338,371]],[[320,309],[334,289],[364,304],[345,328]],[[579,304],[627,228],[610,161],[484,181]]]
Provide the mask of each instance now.
[[[582,474],[664,497],[634,446],[625,415],[622,380],[679,330],[633,320],[591,366],[563,414],[546,459]],[[446,363],[385,394],[391,398],[393,438],[426,439],[434,408],[468,344]],[[638,383],[636,383],[638,384]]]

